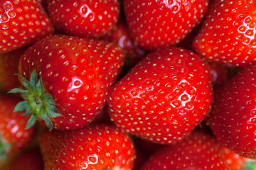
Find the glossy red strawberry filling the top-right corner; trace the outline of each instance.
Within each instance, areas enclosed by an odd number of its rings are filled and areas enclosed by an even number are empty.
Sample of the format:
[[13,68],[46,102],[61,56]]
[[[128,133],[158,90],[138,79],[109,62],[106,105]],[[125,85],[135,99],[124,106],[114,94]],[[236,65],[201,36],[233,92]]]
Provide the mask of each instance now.
[[207,60],[235,67],[256,63],[256,1],[213,1],[193,49]]

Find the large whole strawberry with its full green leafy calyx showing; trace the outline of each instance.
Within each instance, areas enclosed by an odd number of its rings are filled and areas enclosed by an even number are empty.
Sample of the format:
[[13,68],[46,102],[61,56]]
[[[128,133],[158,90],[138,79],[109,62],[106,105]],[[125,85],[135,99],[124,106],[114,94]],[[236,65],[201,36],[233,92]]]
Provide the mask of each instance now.
[[25,89],[10,92],[21,92],[25,99],[17,108],[31,115],[27,128],[37,118],[50,130],[81,128],[105,106],[107,92],[123,63],[124,55],[117,45],[49,36],[21,57],[18,71]]

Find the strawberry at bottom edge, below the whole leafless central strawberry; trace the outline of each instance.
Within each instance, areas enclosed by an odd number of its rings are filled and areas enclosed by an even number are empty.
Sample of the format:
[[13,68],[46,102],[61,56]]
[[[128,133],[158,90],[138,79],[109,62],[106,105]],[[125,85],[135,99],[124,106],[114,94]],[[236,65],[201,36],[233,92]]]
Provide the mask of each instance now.
[[166,146],[153,154],[141,170],[228,170],[220,148],[220,143],[212,136],[193,132],[183,141]]

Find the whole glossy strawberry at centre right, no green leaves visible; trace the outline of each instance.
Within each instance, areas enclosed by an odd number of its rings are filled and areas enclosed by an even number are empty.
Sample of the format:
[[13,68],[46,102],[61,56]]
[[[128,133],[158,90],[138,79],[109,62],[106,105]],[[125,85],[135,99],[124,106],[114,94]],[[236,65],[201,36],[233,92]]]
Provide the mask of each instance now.
[[209,111],[210,72],[193,52],[157,50],[110,89],[107,101],[120,128],[153,142],[176,142]]

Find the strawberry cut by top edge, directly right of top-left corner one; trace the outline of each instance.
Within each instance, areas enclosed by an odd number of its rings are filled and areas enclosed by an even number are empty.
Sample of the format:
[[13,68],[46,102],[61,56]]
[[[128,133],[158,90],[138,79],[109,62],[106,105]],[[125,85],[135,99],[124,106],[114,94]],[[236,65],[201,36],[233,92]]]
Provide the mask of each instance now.
[[49,0],[48,12],[58,33],[98,38],[119,18],[118,0]]

